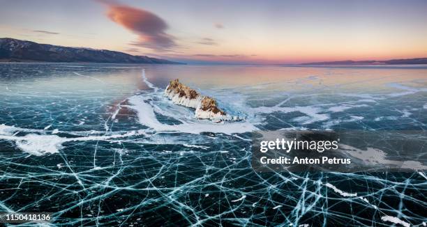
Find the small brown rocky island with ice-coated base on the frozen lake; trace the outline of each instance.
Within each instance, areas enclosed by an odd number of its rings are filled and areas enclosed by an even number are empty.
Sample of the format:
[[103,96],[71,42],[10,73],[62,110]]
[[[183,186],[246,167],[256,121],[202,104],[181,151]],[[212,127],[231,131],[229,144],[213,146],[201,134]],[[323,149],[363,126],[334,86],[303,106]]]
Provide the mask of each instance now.
[[218,108],[216,100],[212,97],[200,95],[197,91],[181,84],[179,79],[169,82],[165,89],[165,96],[172,100],[174,104],[195,109],[196,118],[209,119],[214,122],[241,120],[237,116],[226,114],[225,111]]

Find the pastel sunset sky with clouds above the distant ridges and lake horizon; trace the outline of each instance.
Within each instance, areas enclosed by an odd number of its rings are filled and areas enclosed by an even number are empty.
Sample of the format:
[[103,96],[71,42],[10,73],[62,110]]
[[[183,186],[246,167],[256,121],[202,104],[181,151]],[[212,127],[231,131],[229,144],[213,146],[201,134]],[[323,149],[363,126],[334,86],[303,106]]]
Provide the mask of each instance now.
[[427,57],[427,1],[7,1],[0,37],[186,63]]

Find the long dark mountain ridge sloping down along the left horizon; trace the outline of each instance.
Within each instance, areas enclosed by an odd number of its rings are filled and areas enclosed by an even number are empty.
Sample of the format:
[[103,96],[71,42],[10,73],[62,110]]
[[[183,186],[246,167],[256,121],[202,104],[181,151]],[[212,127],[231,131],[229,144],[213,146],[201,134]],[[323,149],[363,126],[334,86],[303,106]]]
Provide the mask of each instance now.
[[134,56],[106,49],[61,47],[14,38],[0,38],[0,61],[181,64],[160,58]]

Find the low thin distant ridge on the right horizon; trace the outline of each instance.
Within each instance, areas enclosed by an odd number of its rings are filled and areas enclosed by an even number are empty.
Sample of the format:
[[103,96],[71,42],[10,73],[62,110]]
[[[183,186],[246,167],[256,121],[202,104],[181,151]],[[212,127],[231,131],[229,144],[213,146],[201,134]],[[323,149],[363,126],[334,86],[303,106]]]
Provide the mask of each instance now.
[[427,64],[427,58],[392,59],[386,61],[320,61],[302,63],[301,65],[414,65]]

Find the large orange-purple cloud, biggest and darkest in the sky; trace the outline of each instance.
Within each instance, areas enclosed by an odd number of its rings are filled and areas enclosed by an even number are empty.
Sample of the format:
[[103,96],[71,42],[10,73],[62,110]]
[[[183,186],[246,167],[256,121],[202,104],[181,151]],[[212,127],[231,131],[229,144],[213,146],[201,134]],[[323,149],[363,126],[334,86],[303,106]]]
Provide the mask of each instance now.
[[130,43],[138,47],[147,47],[156,51],[167,51],[177,44],[174,37],[166,33],[166,22],[147,10],[123,6],[112,1],[107,4],[107,17],[113,22],[138,35],[138,40]]

